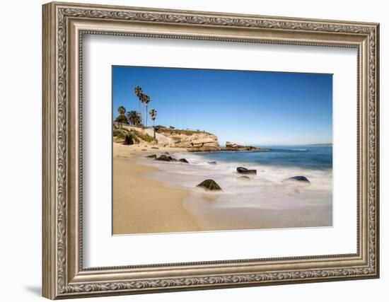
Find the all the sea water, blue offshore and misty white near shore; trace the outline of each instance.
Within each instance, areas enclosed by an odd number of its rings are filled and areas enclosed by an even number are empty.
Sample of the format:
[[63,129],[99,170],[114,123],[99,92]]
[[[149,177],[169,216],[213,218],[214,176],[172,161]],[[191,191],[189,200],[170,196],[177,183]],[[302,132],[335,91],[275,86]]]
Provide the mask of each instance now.
[[[267,147],[272,151],[172,155],[189,164],[142,158],[141,164],[158,168],[143,177],[190,190],[184,207],[206,230],[332,226],[332,146]],[[256,169],[257,175],[242,180],[239,166]],[[283,182],[297,175],[310,184]],[[222,191],[197,187],[206,179],[215,180]]]

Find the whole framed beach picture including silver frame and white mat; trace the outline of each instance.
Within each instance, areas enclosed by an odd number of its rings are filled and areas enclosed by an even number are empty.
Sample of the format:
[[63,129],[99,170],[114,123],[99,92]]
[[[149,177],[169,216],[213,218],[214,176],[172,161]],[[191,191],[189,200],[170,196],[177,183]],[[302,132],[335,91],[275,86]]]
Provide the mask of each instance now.
[[43,6],[43,296],[379,277],[377,23]]

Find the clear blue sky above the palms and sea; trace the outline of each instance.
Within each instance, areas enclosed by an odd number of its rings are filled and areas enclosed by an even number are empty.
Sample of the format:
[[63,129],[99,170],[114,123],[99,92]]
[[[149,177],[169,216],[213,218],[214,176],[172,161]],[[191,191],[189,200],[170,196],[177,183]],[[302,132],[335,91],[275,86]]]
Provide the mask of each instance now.
[[332,143],[331,74],[112,66],[114,119],[120,105],[139,110],[135,86],[156,124],[205,130],[222,146]]

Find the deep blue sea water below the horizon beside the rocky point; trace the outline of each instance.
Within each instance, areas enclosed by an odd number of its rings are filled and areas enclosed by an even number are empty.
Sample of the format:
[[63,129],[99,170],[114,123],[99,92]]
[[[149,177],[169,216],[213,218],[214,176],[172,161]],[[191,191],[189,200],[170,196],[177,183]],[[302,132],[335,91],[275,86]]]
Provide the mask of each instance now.
[[332,146],[261,146],[272,151],[196,153],[204,161],[220,163],[246,163],[250,165],[303,168],[309,170],[332,169]]

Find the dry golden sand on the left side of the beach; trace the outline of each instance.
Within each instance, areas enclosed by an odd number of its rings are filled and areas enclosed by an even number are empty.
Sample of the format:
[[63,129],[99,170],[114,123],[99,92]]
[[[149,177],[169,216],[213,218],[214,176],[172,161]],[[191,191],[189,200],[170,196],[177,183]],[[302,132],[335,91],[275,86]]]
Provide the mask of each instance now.
[[[139,156],[177,148],[151,149],[141,145],[113,145],[113,234],[201,231],[182,205],[189,190],[166,187],[142,177],[157,168],[139,165]],[[183,149],[182,149],[183,151]]]

